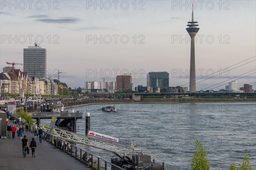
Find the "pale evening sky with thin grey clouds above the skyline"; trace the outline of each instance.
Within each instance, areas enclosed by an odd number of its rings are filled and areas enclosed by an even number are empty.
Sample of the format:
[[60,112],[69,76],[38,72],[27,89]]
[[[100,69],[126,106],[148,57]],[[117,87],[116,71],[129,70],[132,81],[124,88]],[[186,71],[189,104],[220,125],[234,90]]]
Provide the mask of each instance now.
[[151,71],[167,71],[169,86],[189,86],[192,4],[200,28],[197,90],[219,90],[236,79],[238,88],[256,89],[255,0],[1,0],[0,69],[23,63],[23,48],[37,42],[47,49],[47,77],[65,72],[60,81],[71,88],[122,74],[131,74],[134,87],[146,85]]

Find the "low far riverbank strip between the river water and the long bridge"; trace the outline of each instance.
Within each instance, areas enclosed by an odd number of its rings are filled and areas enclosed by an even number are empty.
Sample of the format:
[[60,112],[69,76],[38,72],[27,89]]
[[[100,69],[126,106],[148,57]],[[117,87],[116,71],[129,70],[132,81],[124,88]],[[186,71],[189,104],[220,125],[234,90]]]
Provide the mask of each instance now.
[[64,109],[68,108],[76,108],[86,105],[110,105],[110,104],[123,104],[123,103],[130,103],[130,104],[140,104],[140,103],[148,103],[148,104],[154,104],[154,103],[191,103],[191,102],[256,102],[256,99],[250,99],[250,98],[242,98],[242,99],[231,99],[231,98],[210,98],[210,99],[142,99],[141,101],[135,101],[135,100],[93,100],[93,101],[81,101],[81,102],[69,102],[69,103],[63,103]]

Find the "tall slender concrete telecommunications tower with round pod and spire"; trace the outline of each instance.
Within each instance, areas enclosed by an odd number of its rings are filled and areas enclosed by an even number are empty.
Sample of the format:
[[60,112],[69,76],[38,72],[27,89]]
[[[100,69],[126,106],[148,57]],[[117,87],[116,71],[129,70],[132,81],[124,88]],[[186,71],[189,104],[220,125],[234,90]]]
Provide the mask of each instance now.
[[190,48],[190,75],[189,75],[189,92],[195,93],[195,35],[198,33],[200,28],[197,28],[198,22],[194,21],[194,9],[192,6],[192,20],[188,22],[188,28],[186,30],[191,37],[191,48]]

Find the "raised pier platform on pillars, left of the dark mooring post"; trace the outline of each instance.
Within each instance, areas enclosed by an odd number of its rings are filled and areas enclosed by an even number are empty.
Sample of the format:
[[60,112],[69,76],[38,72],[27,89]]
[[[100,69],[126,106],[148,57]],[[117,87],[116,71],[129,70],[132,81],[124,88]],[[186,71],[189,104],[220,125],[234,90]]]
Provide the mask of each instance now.
[[72,121],[72,131],[76,133],[76,121],[77,119],[82,119],[82,112],[32,112],[33,119],[36,119],[38,125],[40,124],[40,119],[52,119],[52,116],[56,116],[57,119],[69,119]]

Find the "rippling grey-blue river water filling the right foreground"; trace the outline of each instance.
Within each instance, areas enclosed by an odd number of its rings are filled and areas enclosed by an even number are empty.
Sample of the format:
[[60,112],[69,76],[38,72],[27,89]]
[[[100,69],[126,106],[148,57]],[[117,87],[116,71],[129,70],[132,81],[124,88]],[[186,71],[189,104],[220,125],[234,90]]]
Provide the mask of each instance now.
[[[117,104],[117,113],[101,111],[102,105],[72,108],[84,112],[78,133],[85,133],[85,112],[91,113],[90,129],[119,137],[120,144],[151,151],[166,170],[191,169],[194,144],[207,150],[211,169],[227,170],[250,153],[256,169],[256,103]],[[67,109],[70,111],[71,109]],[[112,153],[91,149],[109,159]]]

